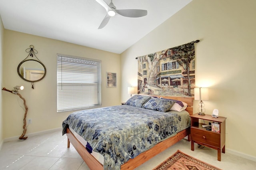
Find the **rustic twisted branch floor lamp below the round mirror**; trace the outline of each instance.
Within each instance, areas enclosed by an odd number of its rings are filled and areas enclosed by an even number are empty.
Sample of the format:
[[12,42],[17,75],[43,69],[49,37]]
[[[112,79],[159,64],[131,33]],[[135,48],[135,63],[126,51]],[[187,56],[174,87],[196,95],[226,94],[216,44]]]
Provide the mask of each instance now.
[[19,137],[19,139],[26,139],[28,138],[28,136],[25,136],[26,134],[26,131],[27,131],[27,127],[26,127],[26,116],[27,116],[27,113],[28,113],[28,107],[26,105],[26,100],[22,97],[22,95],[20,95],[18,93],[18,90],[23,90],[24,87],[23,86],[15,86],[14,87],[14,90],[8,90],[6,89],[5,87],[2,88],[2,90],[5,90],[5,91],[9,91],[10,93],[13,93],[15,95],[18,95],[20,97],[20,99],[22,99],[24,101],[24,107],[26,109],[25,113],[24,113],[24,118],[23,118],[23,132],[22,132],[22,135]]

